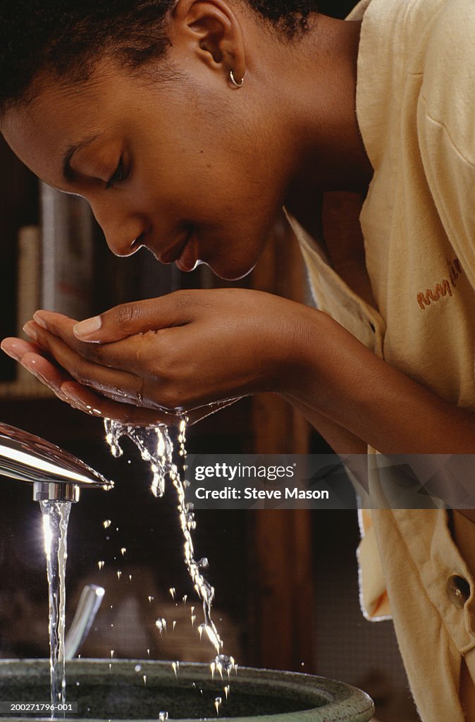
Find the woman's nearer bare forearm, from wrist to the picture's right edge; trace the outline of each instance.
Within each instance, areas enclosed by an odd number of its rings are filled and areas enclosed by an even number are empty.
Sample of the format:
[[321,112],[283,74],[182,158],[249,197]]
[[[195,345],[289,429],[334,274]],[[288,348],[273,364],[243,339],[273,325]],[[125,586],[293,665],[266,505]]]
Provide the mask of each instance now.
[[319,419],[342,427],[351,450],[361,439],[382,453],[474,453],[475,414],[388,365],[326,314],[303,313],[283,395],[314,409],[317,428]]

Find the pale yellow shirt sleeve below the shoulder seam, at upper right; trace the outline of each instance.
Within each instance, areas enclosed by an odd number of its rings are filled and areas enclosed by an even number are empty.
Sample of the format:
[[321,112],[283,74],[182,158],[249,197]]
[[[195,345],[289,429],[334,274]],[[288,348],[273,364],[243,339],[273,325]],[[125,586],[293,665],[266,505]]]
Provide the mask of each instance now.
[[417,132],[445,232],[475,288],[475,3],[447,0],[432,25]]

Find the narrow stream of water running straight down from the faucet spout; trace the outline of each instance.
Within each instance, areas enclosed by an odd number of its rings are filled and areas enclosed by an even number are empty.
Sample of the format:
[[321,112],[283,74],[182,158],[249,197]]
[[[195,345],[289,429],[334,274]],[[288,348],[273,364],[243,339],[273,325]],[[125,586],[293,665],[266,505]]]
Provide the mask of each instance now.
[[66,702],[66,539],[71,503],[41,501],[40,507],[48,572],[51,705],[58,705]]

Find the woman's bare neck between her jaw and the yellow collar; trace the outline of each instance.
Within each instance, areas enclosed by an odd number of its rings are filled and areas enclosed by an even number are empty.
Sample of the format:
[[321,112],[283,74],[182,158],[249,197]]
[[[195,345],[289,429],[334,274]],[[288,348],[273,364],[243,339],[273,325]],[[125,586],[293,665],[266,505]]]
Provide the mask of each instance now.
[[372,177],[356,114],[360,28],[360,22],[317,15],[302,53],[294,55],[285,122],[297,160],[285,202],[308,230],[323,191],[365,193]]

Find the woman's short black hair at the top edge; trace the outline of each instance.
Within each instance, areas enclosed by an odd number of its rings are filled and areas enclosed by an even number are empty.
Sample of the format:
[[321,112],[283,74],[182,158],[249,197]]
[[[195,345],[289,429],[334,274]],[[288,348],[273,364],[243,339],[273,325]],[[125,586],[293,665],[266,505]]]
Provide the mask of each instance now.
[[[313,0],[245,0],[264,22],[295,38]],[[69,81],[87,79],[107,49],[137,68],[164,56],[167,13],[175,0],[1,0],[0,113],[27,100],[40,70]]]

